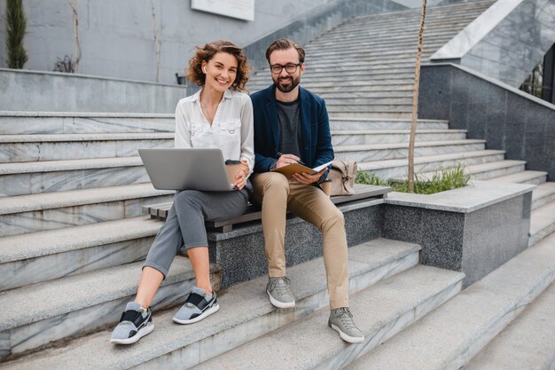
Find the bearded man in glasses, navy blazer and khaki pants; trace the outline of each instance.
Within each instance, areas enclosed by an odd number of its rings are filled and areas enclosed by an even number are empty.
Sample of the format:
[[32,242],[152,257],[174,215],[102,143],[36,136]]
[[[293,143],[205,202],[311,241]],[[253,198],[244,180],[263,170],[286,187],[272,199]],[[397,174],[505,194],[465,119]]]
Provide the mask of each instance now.
[[328,325],[347,342],[363,342],[348,309],[347,238],[343,214],[317,186],[329,169],[314,175],[296,173],[291,181],[271,169],[296,162],[310,168],[333,160],[332,137],[325,103],[299,83],[304,50],[279,39],[266,51],[273,85],[254,93],[254,199],[262,205],[262,229],[269,282],[266,292],[278,308],[295,306],[285,274],[287,210],[323,232],[324,264],[330,295]]

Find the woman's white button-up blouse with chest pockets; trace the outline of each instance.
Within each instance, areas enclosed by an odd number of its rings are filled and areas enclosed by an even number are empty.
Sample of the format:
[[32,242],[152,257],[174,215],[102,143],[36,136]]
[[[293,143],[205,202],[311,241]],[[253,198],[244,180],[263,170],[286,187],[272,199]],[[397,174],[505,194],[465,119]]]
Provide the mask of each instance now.
[[243,92],[226,90],[212,125],[200,107],[200,91],[176,106],[176,147],[217,147],[224,160],[246,160],[254,169],[253,103]]

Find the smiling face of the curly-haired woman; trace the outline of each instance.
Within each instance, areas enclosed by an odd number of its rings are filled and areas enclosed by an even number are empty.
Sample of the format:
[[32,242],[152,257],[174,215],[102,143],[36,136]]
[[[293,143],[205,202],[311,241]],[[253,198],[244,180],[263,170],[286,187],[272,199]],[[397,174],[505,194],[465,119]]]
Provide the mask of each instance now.
[[238,61],[235,56],[227,52],[217,52],[208,62],[202,62],[202,70],[206,70],[205,87],[216,91],[230,88],[237,78]]

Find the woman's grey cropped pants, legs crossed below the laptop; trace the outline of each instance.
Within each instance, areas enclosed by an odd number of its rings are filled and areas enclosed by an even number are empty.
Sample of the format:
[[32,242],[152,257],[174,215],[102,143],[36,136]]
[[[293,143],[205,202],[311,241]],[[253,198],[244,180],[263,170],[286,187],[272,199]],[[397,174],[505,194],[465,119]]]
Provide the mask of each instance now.
[[248,196],[246,189],[233,192],[184,190],[177,193],[143,267],[152,267],[166,278],[169,266],[180,250],[208,246],[204,221],[243,214]]

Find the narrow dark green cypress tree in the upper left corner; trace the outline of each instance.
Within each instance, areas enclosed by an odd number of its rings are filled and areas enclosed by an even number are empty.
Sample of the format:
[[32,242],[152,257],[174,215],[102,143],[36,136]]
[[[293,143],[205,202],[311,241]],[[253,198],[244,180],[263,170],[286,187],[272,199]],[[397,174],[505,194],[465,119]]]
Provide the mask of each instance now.
[[27,20],[21,0],[6,0],[6,49],[8,67],[21,69],[27,62],[27,52],[23,48],[23,37]]

